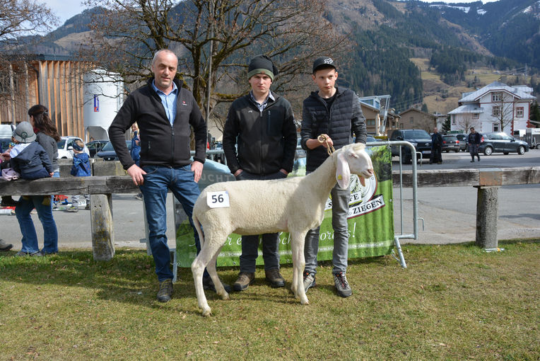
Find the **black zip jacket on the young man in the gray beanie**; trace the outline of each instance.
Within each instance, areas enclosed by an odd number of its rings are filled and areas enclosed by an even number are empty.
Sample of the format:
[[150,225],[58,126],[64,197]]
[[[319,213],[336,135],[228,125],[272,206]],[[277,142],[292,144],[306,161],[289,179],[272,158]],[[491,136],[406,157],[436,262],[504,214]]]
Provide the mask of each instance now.
[[[272,93],[263,112],[250,94],[230,105],[223,127],[223,151],[230,173],[238,169],[264,176],[293,170],[296,127],[290,103]],[[237,149],[235,144],[237,143]]]

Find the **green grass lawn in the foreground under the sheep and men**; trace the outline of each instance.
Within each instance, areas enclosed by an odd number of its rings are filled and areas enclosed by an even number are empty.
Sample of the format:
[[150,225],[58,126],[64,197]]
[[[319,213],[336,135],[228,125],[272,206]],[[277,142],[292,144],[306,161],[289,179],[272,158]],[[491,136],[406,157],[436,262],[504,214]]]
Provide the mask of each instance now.
[[[540,241],[405,245],[391,256],[351,260],[353,295],[336,296],[331,265],[302,306],[254,285],[222,301],[206,292],[201,316],[191,270],[180,269],[170,302],[155,300],[153,260],[117,250],[44,258],[0,254],[0,360],[539,360]],[[221,268],[232,284],[237,268]]]

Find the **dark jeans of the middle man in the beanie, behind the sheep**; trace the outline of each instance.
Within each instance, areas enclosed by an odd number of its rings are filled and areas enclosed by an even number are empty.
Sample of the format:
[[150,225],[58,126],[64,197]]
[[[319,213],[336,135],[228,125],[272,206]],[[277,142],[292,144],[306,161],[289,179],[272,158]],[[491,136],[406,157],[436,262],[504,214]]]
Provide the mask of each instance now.
[[[266,180],[281,179],[287,176],[281,172],[259,176],[253,173],[242,171],[236,179],[246,180]],[[240,272],[255,273],[255,263],[259,256],[259,235],[242,236],[242,254],[240,255]],[[279,268],[279,235],[277,233],[262,234],[262,258],[264,260],[264,270]]]

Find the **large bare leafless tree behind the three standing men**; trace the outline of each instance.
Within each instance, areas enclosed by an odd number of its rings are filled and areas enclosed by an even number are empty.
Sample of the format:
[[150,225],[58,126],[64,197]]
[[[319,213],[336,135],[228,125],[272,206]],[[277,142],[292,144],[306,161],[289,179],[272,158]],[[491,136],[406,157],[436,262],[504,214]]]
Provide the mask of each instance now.
[[274,60],[280,74],[273,89],[288,96],[310,84],[307,70],[314,57],[348,49],[346,36],[337,35],[322,16],[321,0],[87,0],[86,4],[103,9],[93,19],[94,36],[84,48],[86,57],[137,84],[150,76],[153,53],[169,48],[180,59],[178,76],[202,109],[210,87],[211,111],[247,93],[245,68],[254,55]]

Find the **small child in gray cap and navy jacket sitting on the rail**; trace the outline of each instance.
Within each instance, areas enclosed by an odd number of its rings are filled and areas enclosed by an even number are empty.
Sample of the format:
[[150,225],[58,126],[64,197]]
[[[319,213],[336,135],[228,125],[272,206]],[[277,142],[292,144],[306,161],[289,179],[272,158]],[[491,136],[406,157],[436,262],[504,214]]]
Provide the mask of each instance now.
[[20,178],[33,180],[52,177],[52,163],[47,151],[35,142],[36,135],[29,122],[20,122],[13,130],[15,147],[9,152],[11,168]]

